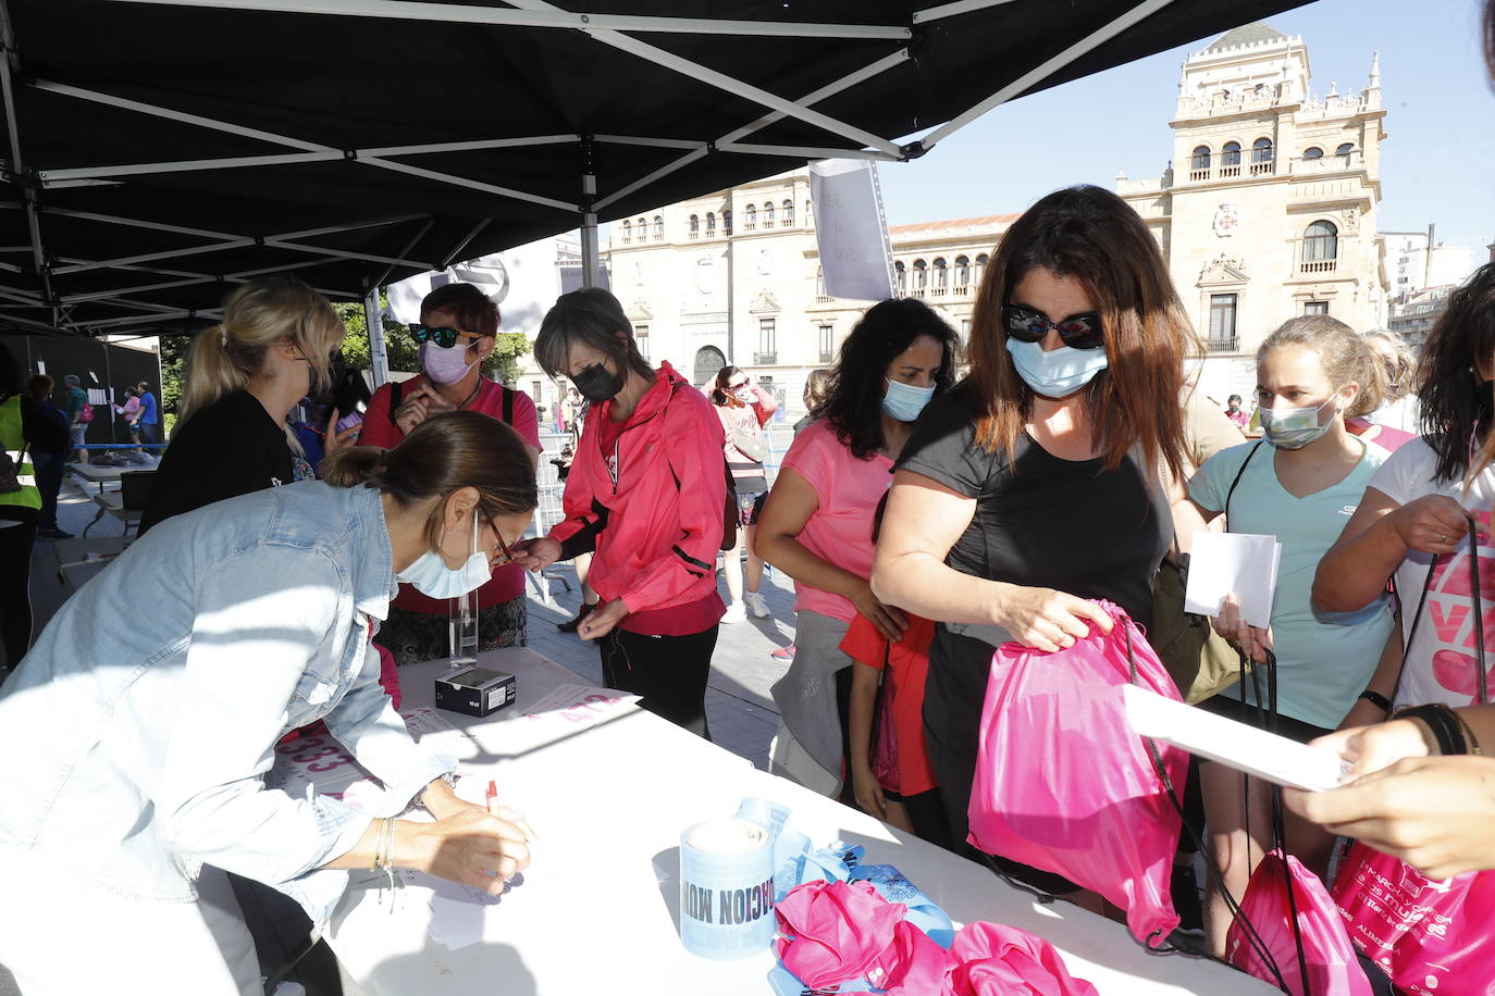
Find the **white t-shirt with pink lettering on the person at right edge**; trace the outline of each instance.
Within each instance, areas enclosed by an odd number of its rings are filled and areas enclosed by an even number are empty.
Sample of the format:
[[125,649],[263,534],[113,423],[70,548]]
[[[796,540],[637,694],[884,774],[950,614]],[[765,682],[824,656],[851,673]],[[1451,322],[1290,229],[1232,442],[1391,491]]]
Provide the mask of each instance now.
[[[1462,478],[1434,481],[1435,466],[1437,455],[1432,448],[1422,438],[1413,439],[1381,464],[1371,478],[1371,487],[1398,505],[1407,505],[1425,494],[1446,494],[1470,509],[1474,518],[1488,527],[1491,506],[1495,505],[1495,470],[1486,467],[1480,472],[1465,494]],[[1485,615],[1483,644],[1489,667],[1495,664],[1495,548],[1491,547],[1488,536],[1480,536],[1477,550],[1480,611]],[[1401,688],[1396,693],[1398,706],[1428,702],[1470,705],[1479,691],[1467,545],[1459,553],[1438,557],[1428,605],[1423,608],[1417,632],[1411,632],[1411,615],[1422,599],[1431,560],[1428,554],[1410,553],[1396,569],[1396,591],[1402,602],[1402,636],[1413,639]],[[1486,684],[1495,691],[1495,676],[1488,676]]]

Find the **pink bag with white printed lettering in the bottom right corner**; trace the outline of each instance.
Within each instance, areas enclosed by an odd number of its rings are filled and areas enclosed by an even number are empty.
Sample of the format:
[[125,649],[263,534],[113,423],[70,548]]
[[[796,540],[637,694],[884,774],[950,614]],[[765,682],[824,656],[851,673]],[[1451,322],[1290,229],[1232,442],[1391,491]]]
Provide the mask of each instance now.
[[1398,990],[1489,993],[1495,987],[1495,872],[1444,881],[1356,841],[1334,899],[1350,939]]

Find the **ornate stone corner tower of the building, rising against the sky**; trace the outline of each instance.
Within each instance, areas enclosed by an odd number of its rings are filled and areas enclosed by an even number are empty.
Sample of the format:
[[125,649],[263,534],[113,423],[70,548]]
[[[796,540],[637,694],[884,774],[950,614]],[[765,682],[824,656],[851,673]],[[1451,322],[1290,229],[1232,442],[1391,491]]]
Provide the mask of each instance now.
[[1117,179],[1211,354],[1248,357],[1295,315],[1384,324],[1380,58],[1360,93],[1310,84],[1301,37],[1238,27],[1183,64],[1172,169]]

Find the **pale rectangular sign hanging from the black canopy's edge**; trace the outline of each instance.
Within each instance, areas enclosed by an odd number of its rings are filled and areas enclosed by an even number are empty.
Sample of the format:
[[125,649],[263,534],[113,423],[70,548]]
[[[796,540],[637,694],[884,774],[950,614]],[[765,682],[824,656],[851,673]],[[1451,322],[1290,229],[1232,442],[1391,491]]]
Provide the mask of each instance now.
[[893,243],[882,214],[878,164],[870,160],[810,163],[810,202],[825,293],[852,300],[893,297]]

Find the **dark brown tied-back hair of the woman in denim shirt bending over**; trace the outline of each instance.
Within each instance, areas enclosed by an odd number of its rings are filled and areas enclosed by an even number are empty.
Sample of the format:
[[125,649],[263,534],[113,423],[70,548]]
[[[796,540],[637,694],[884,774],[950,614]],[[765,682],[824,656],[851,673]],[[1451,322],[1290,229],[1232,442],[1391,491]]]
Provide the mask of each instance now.
[[432,547],[441,542],[446,497],[457,488],[477,488],[489,520],[540,505],[535,467],[519,433],[481,412],[432,415],[393,449],[350,446],[323,460],[320,475],[339,488],[375,488],[401,508],[440,497],[426,520]]

